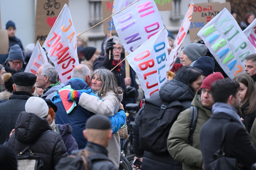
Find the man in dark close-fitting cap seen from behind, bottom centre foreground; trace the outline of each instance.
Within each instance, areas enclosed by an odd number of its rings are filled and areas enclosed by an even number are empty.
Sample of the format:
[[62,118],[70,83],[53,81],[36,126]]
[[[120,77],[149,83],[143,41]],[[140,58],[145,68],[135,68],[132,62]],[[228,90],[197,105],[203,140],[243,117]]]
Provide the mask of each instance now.
[[[86,122],[83,134],[88,141],[86,147],[83,150],[74,151],[72,154],[80,155],[82,153],[84,155],[84,153],[88,153],[89,160],[93,155],[95,160],[92,161],[92,169],[117,169],[116,165],[108,159],[108,151],[106,149],[108,141],[112,137],[111,123],[108,117],[104,115],[91,116]],[[101,159],[96,160],[98,156]],[[60,159],[55,169],[68,169],[67,167],[71,167],[71,164],[74,163],[72,159],[72,157]]]

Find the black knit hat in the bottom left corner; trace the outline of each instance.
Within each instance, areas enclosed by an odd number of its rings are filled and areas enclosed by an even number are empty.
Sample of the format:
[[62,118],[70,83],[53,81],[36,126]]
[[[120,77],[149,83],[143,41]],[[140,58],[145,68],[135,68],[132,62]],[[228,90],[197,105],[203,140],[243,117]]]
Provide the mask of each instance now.
[[7,147],[0,145],[0,167],[2,170],[16,170],[17,159],[14,151]]

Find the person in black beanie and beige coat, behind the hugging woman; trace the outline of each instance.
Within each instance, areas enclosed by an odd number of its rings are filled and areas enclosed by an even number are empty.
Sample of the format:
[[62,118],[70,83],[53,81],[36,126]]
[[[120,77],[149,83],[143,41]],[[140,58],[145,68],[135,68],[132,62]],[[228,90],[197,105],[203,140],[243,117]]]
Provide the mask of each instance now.
[[95,61],[96,58],[100,56],[100,52],[94,47],[85,47],[82,50],[82,54],[84,55],[85,60],[81,61],[81,64],[87,65],[92,73],[93,62]]

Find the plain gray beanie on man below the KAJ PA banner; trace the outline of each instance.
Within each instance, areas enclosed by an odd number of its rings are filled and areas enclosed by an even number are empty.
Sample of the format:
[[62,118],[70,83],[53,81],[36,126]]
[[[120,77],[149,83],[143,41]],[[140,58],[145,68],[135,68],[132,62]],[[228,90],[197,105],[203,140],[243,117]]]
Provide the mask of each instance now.
[[204,44],[190,43],[182,50],[192,62],[196,61],[199,57],[205,56],[207,47]]

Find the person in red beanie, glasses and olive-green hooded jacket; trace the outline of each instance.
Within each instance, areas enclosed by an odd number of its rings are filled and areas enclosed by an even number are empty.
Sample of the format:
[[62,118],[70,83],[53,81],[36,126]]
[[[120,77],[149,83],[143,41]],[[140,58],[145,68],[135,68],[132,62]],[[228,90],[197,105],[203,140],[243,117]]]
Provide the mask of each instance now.
[[[220,72],[215,72],[207,76],[201,89],[196,92],[191,106],[197,107],[198,115],[195,131],[190,137],[190,108],[180,113],[173,123],[167,138],[167,148],[170,155],[177,161],[182,162],[183,170],[202,170],[203,156],[200,150],[200,130],[203,124],[212,115],[212,105],[214,104],[211,85],[219,79],[224,79]],[[192,142],[190,142],[190,138]]]

